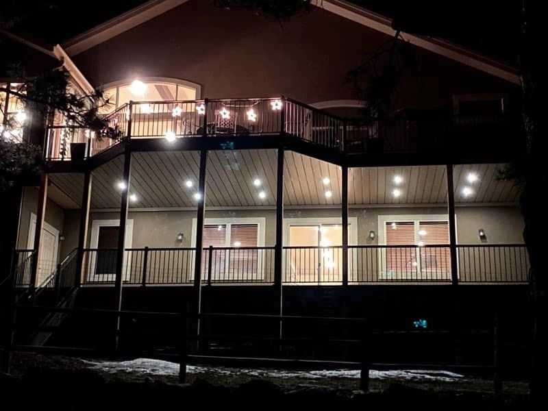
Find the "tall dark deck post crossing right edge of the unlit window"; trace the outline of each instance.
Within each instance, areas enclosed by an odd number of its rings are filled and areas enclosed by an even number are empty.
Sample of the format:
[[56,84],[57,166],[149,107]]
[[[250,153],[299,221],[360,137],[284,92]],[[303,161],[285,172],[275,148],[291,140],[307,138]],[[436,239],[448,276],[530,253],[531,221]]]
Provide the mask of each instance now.
[[127,225],[127,208],[129,207],[129,188],[132,179],[132,150],[130,146],[132,136],[132,111],[133,101],[129,101],[129,119],[127,120],[127,137],[124,145],[124,168],[122,181],[125,188],[122,190],[120,200],[120,228],[118,230],[118,247],[116,248],[116,278],[114,279],[114,299],[116,314],[116,336],[114,338],[114,351],[118,351],[120,336],[120,311],[122,309],[122,284],[125,257],[125,229]]

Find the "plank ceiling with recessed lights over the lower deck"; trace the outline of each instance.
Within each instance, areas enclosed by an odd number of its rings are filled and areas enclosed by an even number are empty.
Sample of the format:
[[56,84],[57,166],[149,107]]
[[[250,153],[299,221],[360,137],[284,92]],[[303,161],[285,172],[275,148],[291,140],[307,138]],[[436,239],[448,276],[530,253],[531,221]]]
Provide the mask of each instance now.
[[[206,177],[206,208],[275,206],[275,150],[210,151]],[[336,206],[340,204],[340,167],[306,155],[286,152],[284,203],[286,206]],[[92,173],[91,207],[119,208],[123,157],[118,157]],[[516,203],[519,189],[498,178],[500,164],[456,166],[454,170],[457,203]],[[469,173],[478,181],[466,181]],[[132,157],[130,193],[137,201],[130,208],[196,208],[199,152],[146,152]],[[394,183],[399,175],[401,184]],[[329,177],[329,184],[323,178]],[[260,187],[253,185],[260,179]],[[50,197],[63,208],[79,208],[82,202],[82,174],[51,175]],[[190,180],[192,187],[185,182]],[[462,190],[473,193],[464,197]],[[400,190],[399,197],[393,190]],[[266,198],[258,193],[264,190]],[[325,192],[332,197],[325,197]],[[360,206],[440,204],[447,201],[445,166],[396,166],[353,168],[349,171],[349,204]]]

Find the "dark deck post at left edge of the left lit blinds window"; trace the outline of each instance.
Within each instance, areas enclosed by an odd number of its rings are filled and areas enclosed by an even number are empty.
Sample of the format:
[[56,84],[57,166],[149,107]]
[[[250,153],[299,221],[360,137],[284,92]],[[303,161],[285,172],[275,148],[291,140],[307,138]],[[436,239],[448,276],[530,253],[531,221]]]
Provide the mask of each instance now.
[[[203,256],[203,221],[206,211],[206,167],[208,162],[208,151],[200,151],[200,175],[198,179],[198,212],[196,218],[196,258],[194,261],[194,288],[195,288],[195,331],[196,337],[200,336],[200,314],[201,314],[201,259]],[[199,347],[199,340],[197,345]]]

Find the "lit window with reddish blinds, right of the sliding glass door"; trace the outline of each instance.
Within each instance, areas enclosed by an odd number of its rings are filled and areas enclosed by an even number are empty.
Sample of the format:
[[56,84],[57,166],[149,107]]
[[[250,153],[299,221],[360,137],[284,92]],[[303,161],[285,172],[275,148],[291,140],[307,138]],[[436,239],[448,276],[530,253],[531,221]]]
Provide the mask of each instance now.
[[[440,216],[379,216],[381,279],[450,279],[449,223]],[[439,247],[436,247],[439,246]]]

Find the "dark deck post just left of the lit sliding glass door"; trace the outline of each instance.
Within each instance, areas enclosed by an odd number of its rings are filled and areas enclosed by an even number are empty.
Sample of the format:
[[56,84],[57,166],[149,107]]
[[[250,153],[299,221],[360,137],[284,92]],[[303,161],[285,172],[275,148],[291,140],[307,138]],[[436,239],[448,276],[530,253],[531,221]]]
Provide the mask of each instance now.
[[274,287],[277,305],[279,306],[279,338],[282,338],[282,318],[284,315],[284,295],[283,295],[283,245],[284,245],[284,156],[283,147],[278,148],[277,153],[277,172],[276,172],[276,243],[274,250]]

